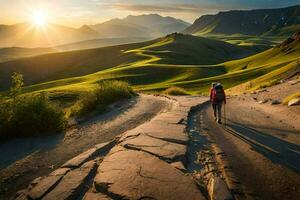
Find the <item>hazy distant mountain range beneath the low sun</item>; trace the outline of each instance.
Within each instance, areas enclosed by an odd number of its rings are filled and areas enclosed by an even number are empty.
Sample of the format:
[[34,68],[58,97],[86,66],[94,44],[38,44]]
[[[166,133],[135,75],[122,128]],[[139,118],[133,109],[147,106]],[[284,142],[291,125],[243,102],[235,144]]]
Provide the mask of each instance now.
[[[71,28],[57,24],[35,27],[30,23],[0,25],[0,47],[54,47],[85,40],[143,37],[153,39],[179,32],[190,24],[156,14],[128,16],[95,25]],[[123,41],[125,42],[125,41]]]

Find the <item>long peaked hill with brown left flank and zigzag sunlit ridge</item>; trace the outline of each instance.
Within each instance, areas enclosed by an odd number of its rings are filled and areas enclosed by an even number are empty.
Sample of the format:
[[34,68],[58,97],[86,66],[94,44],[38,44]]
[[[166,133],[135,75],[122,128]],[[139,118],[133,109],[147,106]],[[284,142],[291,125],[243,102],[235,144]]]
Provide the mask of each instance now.
[[[107,69],[146,74],[150,76],[147,81],[152,83],[160,76],[172,77],[187,69],[195,71],[197,67],[181,65],[216,64],[253,53],[249,48],[213,39],[173,34],[148,42],[53,53],[0,63],[0,89],[9,87],[13,72],[23,74],[26,85],[88,75]],[[139,69],[135,66],[139,66]],[[153,66],[156,66],[155,70]],[[201,68],[196,71],[201,71],[200,74],[205,76],[212,73]],[[214,75],[222,70],[209,71],[213,71]],[[161,73],[157,74],[158,72]],[[157,74],[155,79],[151,78],[152,74]]]

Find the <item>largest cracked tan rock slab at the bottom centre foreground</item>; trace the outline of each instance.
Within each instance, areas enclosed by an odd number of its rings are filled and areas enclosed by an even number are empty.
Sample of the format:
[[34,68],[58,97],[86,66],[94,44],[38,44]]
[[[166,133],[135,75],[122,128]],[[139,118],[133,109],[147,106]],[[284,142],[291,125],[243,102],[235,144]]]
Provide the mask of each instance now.
[[104,158],[94,185],[99,192],[123,199],[205,199],[192,178],[172,165],[120,146]]

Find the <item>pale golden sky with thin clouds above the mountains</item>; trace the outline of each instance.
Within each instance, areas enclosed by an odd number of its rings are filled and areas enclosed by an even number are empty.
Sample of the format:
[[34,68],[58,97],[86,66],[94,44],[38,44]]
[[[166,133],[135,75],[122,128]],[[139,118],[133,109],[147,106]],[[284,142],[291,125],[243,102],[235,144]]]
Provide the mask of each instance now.
[[220,11],[291,5],[300,5],[300,0],[0,0],[0,24],[30,21],[36,12],[43,12],[49,22],[73,27],[150,13],[192,23]]

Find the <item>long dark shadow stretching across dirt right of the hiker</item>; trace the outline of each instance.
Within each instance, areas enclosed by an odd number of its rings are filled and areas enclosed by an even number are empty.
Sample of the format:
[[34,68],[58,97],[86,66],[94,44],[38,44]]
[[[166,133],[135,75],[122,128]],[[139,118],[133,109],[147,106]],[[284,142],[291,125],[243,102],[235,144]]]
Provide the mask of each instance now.
[[[273,163],[286,166],[300,173],[300,146],[274,137],[254,128],[229,121],[225,130],[251,145],[252,149]],[[274,131],[269,129],[270,132]]]

